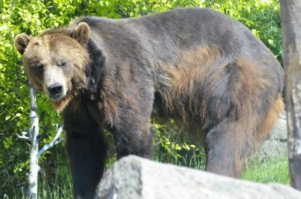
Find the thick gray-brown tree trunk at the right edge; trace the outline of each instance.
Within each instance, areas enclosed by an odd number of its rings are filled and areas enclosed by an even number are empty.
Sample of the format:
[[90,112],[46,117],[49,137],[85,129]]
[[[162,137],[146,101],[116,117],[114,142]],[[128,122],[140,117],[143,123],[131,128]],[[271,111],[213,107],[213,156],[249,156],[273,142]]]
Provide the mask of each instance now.
[[301,0],[280,0],[291,186],[301,190]]

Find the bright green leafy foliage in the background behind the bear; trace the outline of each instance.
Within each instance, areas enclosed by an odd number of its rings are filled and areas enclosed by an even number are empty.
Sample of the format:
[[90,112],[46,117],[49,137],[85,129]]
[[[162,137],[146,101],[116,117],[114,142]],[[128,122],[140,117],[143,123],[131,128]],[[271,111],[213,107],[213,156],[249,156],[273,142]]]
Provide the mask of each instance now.
[[[4,194],[2,191],[19,193],[20,187],[25,186],[28,169],[28,144],[17,140],[16,133],[27,131],[30,126],[29,88],[14,37],[19,33],[38,35],[45,29],[67,25],[80,15],[124,18],[187,6],[211,7],[243,22],[282,62],[278,0],[0,0],[0,178],[10,176],[10,180],[0,184],[0,195]],[[61,117],[45,96],[38,94],[37,104],[40,141],[49,143],[56,132],[55,122],[60,122]],[[185,136],[179,138],[178,133],[171,133],[180,131],[180,127],[155,124],[157,160],[191,167],[204,165],[199,158],[203,155],[200,148]],[[193,158],[187,160],[188,155]],[[45,158],[46,155],[40,161]]]

